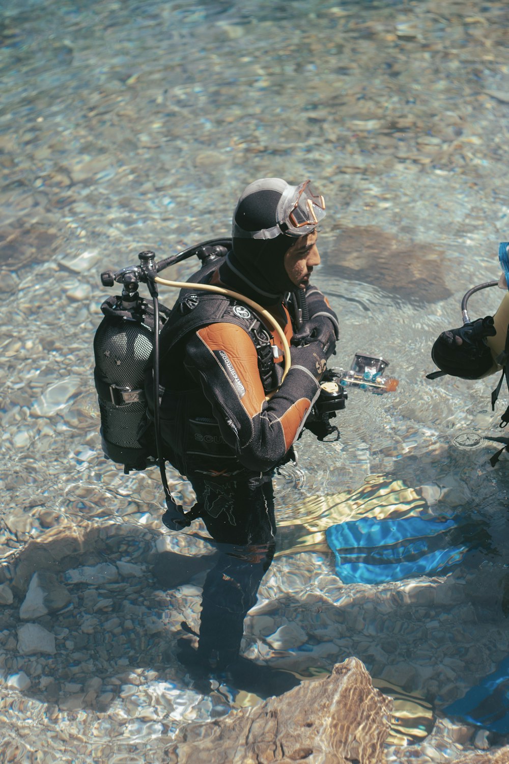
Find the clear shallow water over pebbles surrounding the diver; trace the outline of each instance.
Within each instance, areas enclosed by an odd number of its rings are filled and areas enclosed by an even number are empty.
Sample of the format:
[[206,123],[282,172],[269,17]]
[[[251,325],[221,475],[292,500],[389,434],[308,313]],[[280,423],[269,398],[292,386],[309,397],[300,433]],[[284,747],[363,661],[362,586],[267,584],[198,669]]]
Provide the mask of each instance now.
[[[129,746],[136,760],[186,720],[250,702],[201,694],[172,658],[180,622],[198,623],[202,574],[162,591],[151,565],[158,549],[210,548],[199,528],[163,533],[156,474],[126,477],[102,457],[92,337],[101,270],[227,235],[246,183],[273,174],[310,176],[327,199],[316,282],[340,316],[337,365],[383,354],[400,384],[385,397],[351,391],[340,442],[306,433],[298,467],[278,478],[279,550],[245,654],[301,674],[358,656],[410,714],[395,721],[404,747],[390,755],[424,757],[413,741],[509,648],[507,457],[493,470],[496,445],[451,444],[464,430],[499,434],[495,380],[425,379],[434,338],[459,325],[469,286],[498,277],[507,240],[507,6],[23,0],[1,13],[0,533],[15,595],[0,612],[6,745],[31,760],[32,718],[48,756],[58,723],[69,760],[114,760]],[[472,315],[500,298],[473,296]],[[328,527],[418,513],[465,523],[456,568],[340,581]],[[117,578],[64,578],[99,562]],[[40,621],[54,655],[24,656],[20,592],[40,565],[72,601]],[[274,646],[287,624],[306,639],[294,630]],[[459,733],[440,724],[427,744],[453,760]]]

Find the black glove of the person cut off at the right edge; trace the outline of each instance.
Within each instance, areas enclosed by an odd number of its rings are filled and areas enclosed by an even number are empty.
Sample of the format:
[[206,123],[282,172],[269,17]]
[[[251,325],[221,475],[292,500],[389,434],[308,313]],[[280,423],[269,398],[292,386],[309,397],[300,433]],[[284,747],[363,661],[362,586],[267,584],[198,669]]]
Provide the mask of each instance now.
[[493,366],[491,350],[485,337],[494,337],[497,331],[492,316],[477,319],[460,329],[449,329],[437,338],[431,358],[445,374],[475,380]]

